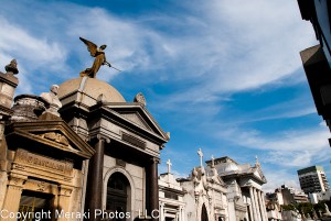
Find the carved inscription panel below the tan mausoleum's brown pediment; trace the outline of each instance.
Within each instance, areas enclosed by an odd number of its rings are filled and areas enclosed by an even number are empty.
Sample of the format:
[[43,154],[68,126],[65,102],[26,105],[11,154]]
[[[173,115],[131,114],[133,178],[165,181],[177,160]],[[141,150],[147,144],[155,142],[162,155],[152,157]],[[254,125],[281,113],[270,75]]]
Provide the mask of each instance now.
[[56,170],[61,174],[70,175],[70,176],[72,175],[73,172],[73,163],[71,162],[61,162],[61,161],[52,159],[49,157],[32,154],[21,148],[17,151],[14,163],[31,165],[38,168],[43,167],[45,169]]

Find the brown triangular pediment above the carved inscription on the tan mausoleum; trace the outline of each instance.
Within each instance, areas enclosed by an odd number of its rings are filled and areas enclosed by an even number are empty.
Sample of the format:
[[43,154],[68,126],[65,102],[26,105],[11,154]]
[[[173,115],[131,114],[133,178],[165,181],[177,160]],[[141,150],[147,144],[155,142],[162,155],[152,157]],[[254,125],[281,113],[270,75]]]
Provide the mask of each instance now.
[[95,153],[90,145],[62,120],[14,122],[6,129],[6,137],[15,144],[11,146],[22,147],[24,141],[29,141],[74,154],[81,158],[90,158]]

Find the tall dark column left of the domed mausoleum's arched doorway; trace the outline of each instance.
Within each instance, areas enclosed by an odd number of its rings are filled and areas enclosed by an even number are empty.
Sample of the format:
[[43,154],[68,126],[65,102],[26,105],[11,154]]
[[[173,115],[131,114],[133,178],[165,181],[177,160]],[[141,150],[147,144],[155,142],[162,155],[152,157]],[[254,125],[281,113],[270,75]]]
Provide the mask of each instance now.
[[[90,212],[90,217],[87,220],[99,221],[100,217],[95,217],[95,210],[103,209],[103,170],[104,170],[104,153],[105,153],[105,140],[104,137],[97,137],[97,142],[94,145],[95,154],[89,159],[88,165],[88,179],[85,197],[85,211]],[[108,140],[107,143],[110,141]]]

